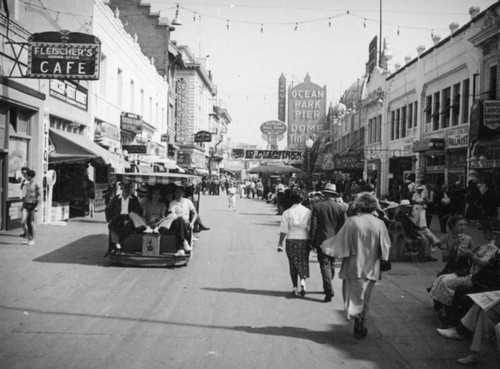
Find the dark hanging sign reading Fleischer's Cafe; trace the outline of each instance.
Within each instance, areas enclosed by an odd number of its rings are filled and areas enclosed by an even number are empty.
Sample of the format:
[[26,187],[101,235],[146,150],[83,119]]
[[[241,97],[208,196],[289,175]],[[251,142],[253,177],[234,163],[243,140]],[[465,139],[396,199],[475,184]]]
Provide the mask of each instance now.
[[28,43],[27,77],[99,79],[101,42],[78,32],[35,33]]

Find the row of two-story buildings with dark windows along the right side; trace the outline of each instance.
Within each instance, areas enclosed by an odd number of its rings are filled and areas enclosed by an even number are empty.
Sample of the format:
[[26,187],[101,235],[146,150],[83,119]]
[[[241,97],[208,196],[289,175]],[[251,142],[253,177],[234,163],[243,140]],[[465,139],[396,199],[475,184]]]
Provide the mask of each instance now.
[[464,187],[475,178],[489,182],[498,197],[500,6],[469,12],[467,24],[451,23],[447,37],[433,35],[434,45],[419,46],[402,66],[392,67],[385,45],[382,68],[367,72],[361,91],[356,81],[331,111],[334,170],[349,172],[345,158],[359,151],[358,116],[363,176],[376,176],[380,195],[397,198],[405,179]]

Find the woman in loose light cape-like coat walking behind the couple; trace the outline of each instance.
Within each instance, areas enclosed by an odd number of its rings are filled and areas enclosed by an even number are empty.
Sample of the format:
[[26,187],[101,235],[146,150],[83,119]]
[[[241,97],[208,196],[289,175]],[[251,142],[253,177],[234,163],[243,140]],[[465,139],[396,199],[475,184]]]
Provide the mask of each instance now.
[[382,220],[374,216],[380,207],[375,196],[362,194],[356,199],[357,215],[321,245],[325,254],[342,259],[339,277],[348,319],[354,319],[354,338],[368,334],[365,326],[370,296],[380,279],[380,260],[389,260],[391,240]]

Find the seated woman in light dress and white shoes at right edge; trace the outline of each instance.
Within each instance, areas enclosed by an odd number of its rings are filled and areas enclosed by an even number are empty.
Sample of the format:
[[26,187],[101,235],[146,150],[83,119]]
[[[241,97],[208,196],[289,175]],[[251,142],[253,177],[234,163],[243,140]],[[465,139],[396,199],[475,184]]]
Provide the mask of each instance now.
[[[446,324],[447,310],[452,307],[453,298],[457,289],[471,290],[473,287],[473,278],[477,275],[489,262],[497,255],[498,245],[500,245],[500,233],[492,234],[485,232],[485,237],[490,239],[489,243],[481,245],[474,250],[462,247],[457,248],[456,255],[458,258],[469,259],[471,263],[470,270],[465,271],[459,269],[453,273],[443,274],[436,278],[429,291],[429,295],[434,299],[435,303],[443,305],[445,314],[441,311],[441,323]],[[437,304],[439,306],[439,304]]]

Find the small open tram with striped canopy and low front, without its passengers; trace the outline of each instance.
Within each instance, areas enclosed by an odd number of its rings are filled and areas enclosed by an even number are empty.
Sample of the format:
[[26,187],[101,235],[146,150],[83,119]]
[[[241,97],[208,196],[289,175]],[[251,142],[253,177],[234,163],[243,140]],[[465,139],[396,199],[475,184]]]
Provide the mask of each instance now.
[[[136,186],[148,184],[149,186],[166,186],[175,184],[177,186],[199,187],[201,178],[197,175],[180,173],[111,173],[111,179],[118,183],[133,183]],[[194,200],[199,210],[199,190],[197,200]],[[194,196],[194,194],[193,194]],[[193,235],[191,234],[191,239]],[[109,238],[111,243],[111,237]],[[191,245],[193,242],[191,240]],[[134,266],[183,266],[186,265],[193,255],[193,251],[185,255],[176,255],[177,245],[175,234],[167,232],[144,233],[132,232],[124,243],[121,244],[120,253],[108,254],[109,261],[117,265]]]

